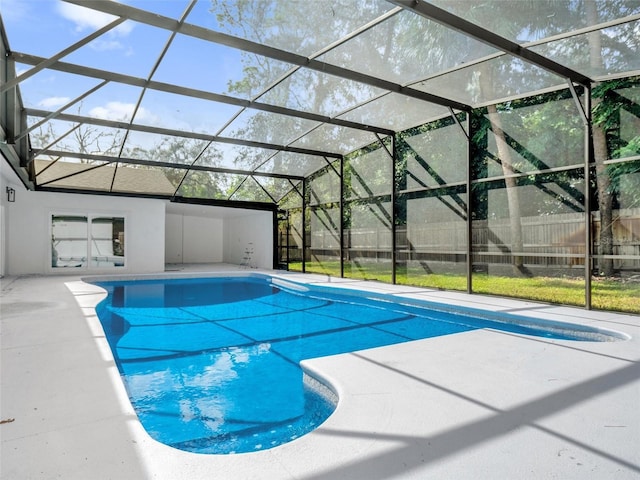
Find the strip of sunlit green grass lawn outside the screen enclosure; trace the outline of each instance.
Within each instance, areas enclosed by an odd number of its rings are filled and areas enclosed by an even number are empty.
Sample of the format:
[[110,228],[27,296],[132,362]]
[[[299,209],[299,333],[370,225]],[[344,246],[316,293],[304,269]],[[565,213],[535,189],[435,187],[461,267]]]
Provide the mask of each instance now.
[[[366,268],[345,264],[345,277],[391,282],[390,263],[367,263]],[[301,271],[301,263],[289,264],[292,271]],[[307,263],[307,272],[340,276],[338,262]],[[442,290],[467,290],[464,275],[424,274],[408,271],[397,273],[396,283]],[[514,278],[487,274],[474,274],[474,293],[514,297],[562,305],[585,305],[584,280],[562,277]],[[626,313],[640,313],[640,283],[620,279],[594,278],[591,282],[591,304],[594,309]]]

